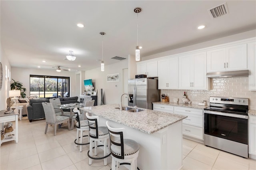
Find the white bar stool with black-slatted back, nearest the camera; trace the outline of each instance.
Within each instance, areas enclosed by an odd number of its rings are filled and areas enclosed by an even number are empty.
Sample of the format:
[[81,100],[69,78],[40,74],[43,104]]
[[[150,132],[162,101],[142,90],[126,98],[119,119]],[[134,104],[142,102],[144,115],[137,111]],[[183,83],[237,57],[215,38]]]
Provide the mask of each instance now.
[[110,136],[110,151],[112,155],[112,170],[117,170],[119,165],[130,165],[130,170],[138,169],[137,158],[139,144],[132,139],[125,139],[125,128],[112,128],[106,121]]

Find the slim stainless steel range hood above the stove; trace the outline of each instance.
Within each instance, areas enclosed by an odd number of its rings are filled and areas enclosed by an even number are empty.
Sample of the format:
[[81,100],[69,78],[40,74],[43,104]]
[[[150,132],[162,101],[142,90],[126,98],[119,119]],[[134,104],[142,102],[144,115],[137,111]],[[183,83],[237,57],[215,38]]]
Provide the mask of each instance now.
[[236,71],[220,71],[220,72],[212,72],[206,73],[206,77],[214,78],[214,77],[244,77],[249,76],[250,70],[236,70]]

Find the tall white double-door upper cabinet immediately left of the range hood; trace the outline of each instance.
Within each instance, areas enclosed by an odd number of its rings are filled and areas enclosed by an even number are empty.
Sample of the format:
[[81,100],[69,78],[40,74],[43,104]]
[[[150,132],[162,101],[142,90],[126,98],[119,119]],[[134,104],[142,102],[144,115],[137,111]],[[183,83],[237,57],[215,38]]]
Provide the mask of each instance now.
[[206,52],[179,56],[179,89],[208,89],[206,78]]

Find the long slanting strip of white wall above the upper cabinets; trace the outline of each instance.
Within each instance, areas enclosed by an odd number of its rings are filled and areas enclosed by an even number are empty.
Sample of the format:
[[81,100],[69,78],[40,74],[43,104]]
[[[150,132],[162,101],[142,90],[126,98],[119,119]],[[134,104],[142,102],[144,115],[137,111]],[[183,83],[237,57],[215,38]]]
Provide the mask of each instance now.
[[158,58],[158,57],[164,57],[164,56],[168,56],[168,55],[173,55],[173,54],[178,54],[178,53],[183,53],[183,52],[201,49],[201,48],[205,48],[205,47],[210,47],[210,46],[214,46],[214,45],[219,45],[219,44],[223,44],[223,43],[235,42],[238,40],[243,40],[243,39],[252,38],[252,37],[256,37],[256,30],[242,32],[239,34],[234,34],[232,36],[218,38],[218,39],[203,42],[203,43],[198,43],[198,44],[194,44],[194,45],[190,45],[190,46],[186,46],[186,47],[181,47],[181,48],[172,49],[169,51],[164,51],[161,53],[156,53],[153,55],[148,55],[146,57],[142,57],[142,61],[145,61],[148,59],[154,59],[154,58]]

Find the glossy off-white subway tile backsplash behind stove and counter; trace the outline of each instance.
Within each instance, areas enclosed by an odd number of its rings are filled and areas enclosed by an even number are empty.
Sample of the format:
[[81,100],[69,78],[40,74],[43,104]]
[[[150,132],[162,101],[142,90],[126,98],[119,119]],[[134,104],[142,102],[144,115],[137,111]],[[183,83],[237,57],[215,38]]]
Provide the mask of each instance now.
[[210,90],[161,90],[160,93],[167,94],[170,101],[175,97],[181,102],[184,91],[192,104],[206,100],[209,105],[210,96],[242,97],[249,99],[249,109],[256,110],[256,91],[248,90],[248,77],[211,78]]

